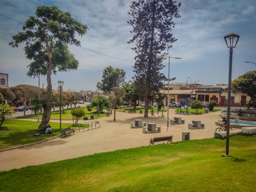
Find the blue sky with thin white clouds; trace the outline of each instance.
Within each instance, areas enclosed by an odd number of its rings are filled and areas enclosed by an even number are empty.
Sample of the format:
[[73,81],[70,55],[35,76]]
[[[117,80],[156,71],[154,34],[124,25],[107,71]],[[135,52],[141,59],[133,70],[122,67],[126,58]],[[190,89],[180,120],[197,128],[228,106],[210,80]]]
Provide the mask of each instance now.
[[[169,49],[170,77],[174,82],[215,85],[228,83],[229,48],[224,36],[234,32],[240,35],[233,49],[232,80],[249,71],[256,70],[256,1],[255,0],[178,0],[181,2],[181,18],[176,23],[173,36],[178,39]],[[35,15],[37,6],[59,7],[71,13],[89,30],[83,37],[76,36],[81,47],[105,55],[131,61],[126,62],[103,56],[79,47],[69,46],[69,50],[79,61],[75,71],[59,72],[52,75],[53,89],[57,89],[59,80],[64,81],[66,90],[96,90],[96,84],[102,79],[105,67],[122,68],[126,71],[126,81],[134,76],[135,44],[127,42],[133,37],[132,26],[127,23],[131,16],[130,0],[1,0],[0,14],[24,23],[29,16]],[[0,73],[9,74],[9,86],[31,84],[38,86],[38,78],[26,76],[26,59],[21,44],[18,48],[8,45],[12,36],[22,31],[22,25],[0,15]],[[166,51],[167,52],[167,51]],[[168,64],[168,60],[164,60]],[[162,70],[168,77],[168,65]],[[187,78],[186,78],[187,77]],[[190,78],[188,78],[190,77]],[[192,82],[191,82],[192,80]],[[40,77],[40,87],[47,85],[46,77]],[[54,85],[55,84],[55,85]]]

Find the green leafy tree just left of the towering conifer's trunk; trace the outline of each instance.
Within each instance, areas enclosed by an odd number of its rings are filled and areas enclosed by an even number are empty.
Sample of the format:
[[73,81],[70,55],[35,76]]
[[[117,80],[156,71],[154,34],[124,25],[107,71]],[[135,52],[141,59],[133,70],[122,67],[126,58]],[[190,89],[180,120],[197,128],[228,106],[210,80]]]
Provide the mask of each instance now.
[[123,100],[134,102],[134,109],[136,109],[136,102],[140,99],[140,96],[135,89],[134,83],[125,82],[122,87],[126,92],[124,94]]

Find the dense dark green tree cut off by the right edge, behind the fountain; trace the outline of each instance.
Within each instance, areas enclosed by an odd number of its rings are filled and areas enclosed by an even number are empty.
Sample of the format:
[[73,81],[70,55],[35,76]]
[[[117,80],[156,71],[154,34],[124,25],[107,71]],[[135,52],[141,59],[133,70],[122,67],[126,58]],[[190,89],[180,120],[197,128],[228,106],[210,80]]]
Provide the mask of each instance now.
[[248,71],[238,76],[232,81],[231,86],[232,93],[240,92],[251,97],[247,108],[249,109],[251,102],[256,99],[256,70]]

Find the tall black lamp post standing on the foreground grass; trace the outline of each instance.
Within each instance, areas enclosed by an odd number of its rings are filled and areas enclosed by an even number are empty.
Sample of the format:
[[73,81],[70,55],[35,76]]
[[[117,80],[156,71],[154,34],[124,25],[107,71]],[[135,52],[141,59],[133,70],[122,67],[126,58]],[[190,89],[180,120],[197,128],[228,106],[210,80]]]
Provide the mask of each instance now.
[[[229,122],[230,122],[230,97],[231,97],[231,74],[232,74],[232,55],[233,48],[236,47],[236,44],[239,39],[239,35],[236,33],[229,33],[224,36],[224,40],[229,48],[229,70],[228,70],[228,94],[227,94],[227,136],[226,136],[226,153],[222,154],[222,156],[230,156],[229,155]],[[235,41],[234,41],[235,39]]]

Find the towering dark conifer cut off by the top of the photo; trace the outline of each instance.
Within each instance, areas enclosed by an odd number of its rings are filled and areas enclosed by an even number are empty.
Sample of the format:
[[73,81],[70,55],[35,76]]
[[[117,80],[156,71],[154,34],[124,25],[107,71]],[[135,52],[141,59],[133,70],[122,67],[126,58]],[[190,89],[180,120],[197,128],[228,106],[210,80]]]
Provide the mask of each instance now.
[[128,21],[133,26],[133,38],[128,43],[136,44],[134,79],[137,90],[145,98],[144,117],[148,117],[149,102],[152,95],[159,91],[166,79],[160,70],[164,57],[168,53],[161,53],[166,48],[172,48],[172,43],[177,39],[170,33],[175,23],[173,18],[179,18],[176,1],[171,0],[139,0],[133,1],[130,14],[133,20]]

